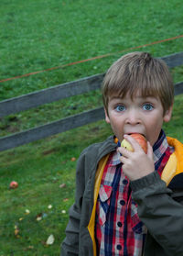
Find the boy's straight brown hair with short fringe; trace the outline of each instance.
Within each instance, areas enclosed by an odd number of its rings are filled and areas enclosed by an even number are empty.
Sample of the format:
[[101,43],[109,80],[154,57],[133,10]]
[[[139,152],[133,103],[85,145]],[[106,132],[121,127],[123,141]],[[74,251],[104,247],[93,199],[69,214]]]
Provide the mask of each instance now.
[[108,108],[110,97],[123,98],[129,93],[133,98],[137,91],[142,96],[158,97],[165,113],[174,101],[174,85],[167,64],[141,51],[125,54],[115,61],[102,83],[105,109]]

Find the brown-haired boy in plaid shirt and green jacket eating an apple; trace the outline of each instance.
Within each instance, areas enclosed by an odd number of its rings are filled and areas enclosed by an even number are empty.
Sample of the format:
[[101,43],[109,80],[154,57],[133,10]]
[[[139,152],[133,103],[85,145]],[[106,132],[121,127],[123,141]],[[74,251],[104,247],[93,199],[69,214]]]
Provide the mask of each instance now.
[[[106,73],[102,97],[114,137],[81,153],[61,256],[183,255],[183,145],[162,130],[174,98],[167,65],[126,54]],[[146,154],[132,133],[145,136]],[[124,138],[133,152],[117,146]]]

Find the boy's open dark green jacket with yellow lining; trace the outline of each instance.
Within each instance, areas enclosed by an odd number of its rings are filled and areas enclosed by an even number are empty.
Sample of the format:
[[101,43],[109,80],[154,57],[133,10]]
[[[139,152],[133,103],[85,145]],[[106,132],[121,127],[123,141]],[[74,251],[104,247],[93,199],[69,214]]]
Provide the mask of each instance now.
[[[131,183],[138,216],[148,233],[145,256],[183,256],[183,145],[168,139],[175,148],[162,173],[154,172]],[[113,137],[83,150],[76,172],[75,203],[70,207],[61,256],[95,256],[95,206],[102,170],[115,150]],[[168,186],[167,186],[168,185]]]

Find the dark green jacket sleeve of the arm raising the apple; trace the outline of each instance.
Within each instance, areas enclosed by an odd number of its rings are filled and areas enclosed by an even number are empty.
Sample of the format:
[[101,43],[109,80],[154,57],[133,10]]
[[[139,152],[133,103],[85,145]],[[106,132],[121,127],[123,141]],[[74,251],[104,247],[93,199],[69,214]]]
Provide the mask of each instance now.
[[183,255],[183,206],[172,197],[172,191],[158,173],[131,182],[138,216],[166,255]]

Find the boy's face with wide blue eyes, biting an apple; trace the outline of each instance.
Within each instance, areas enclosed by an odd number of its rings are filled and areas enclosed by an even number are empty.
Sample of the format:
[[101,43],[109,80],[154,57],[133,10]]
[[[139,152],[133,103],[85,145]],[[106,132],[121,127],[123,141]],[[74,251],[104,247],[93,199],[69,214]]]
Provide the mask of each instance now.
[[140,133],[153,146],[163,122],[171,118],[172,106],[164,114],[159,98],[137,94],[133,99],[130,95],[109,98],[107,110],[105,120],[111,124],[113,133],[120,141],[124,139],[124,134]]

